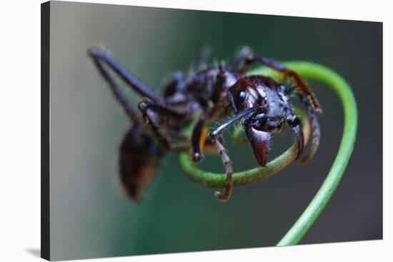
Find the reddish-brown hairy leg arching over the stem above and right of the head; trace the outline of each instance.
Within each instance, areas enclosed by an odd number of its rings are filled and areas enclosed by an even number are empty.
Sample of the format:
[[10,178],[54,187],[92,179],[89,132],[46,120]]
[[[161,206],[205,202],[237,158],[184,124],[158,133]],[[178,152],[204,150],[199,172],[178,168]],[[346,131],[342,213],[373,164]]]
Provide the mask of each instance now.
[[288,69],[283,64],[279,63],[278,61],[274,61],[267,57],[263,56],[250,56],[246,64],[253,64],[255,62],[259,62],[269,68],[273,69],[274,71],[279,72],[284,77],[289,77],[295,85],[295,90],[298,91],[300,94],[304,95],[309,99],[309,103],[312,106],[312,109],[318,113],[322,114],[321,106],[319,106],[319,102],[317,98],[312,94],[312,91],[309,90],[307,85],[304,83],[303,79],[297,74],[297,72],[293,71],[292,69]]

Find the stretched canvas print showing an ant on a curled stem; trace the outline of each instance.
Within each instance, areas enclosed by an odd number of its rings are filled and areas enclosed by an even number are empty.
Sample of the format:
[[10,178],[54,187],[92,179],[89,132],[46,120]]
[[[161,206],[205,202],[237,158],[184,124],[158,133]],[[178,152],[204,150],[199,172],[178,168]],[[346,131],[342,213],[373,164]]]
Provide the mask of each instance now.
[[380,22],[49,1],[41,83],[43,258],[382,239]]

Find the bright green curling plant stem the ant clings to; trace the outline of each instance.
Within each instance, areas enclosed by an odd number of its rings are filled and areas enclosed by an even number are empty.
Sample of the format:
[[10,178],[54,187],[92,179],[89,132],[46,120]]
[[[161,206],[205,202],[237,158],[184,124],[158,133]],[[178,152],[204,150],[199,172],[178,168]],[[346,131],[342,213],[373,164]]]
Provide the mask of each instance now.
[[[349,158],[354,148],[354,142],[357,133],[357,105],[354,99],[352,91],[344,79],[339,76],[336,72],[332,71],[325,66],[315,64],[307,61],[292,61],[284,63],[290,69],[297,71],[300,76],[304,79],[310,79],[319,81],[326,86],[331,87],[339,96],[344,109],[344,131],[342,140],[339,146],[339,151],[332,168],[330,169],[327,177],[325,178],[322,186],[317,191],[316,195],[309,203],[309,206],[304,210],[302,215],[297,219],[294,226],[287,231],[284,238],[277,244],[277,246],[288,246],[297,244],[305,233],[312,226],[314,221],[318,218],[327,202],[332,197],[334,190],[337,188],[339,181],[347,167]],[[278,79],[279,76],[272,70],[267,68],[261,68],[251,71],[249,74],[263,74],[265,76],[272,76]],[[298,113],[299,114],[299,113]],[[302,114],[299,114],[302,116]],[[303,120],[304,121],[304,118]],[[304,122],[307,123],[307,122]],[[304,125],[306,126],[306,125]],[[307,127],[304,131],[307,131]],[[239,135],[239,130],[234,131],[235,138]],[[277,173],[284,166],[291,163],[294,158],[292,154],[297,150],[296,145],[293,145],[281,156],[267,163],[264,168],[253,168],[248,171],[234,173],[234,186],[242,186],[255,181],[260,181],[264,178],[272,176]],[[179,154],[179,163],[181,169],[186,173],[191,180],[201,183],[204,186],[209,187],[224,187],[225,174],[210,173],[202,171],[201,169],[194,166],[192,163],[189,153],[183,152]]]

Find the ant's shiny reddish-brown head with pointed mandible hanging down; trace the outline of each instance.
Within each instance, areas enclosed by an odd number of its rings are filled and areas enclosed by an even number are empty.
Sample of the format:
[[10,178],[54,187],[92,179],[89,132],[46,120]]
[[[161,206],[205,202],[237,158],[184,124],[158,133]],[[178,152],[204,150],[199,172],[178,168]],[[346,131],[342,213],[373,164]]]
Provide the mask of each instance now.
[[246,76],[229,89],[228,97],[237,114],[251,110],[244,116],[244,130],[258,163],[265,166],[271,133],[281,129],[291,111],[282,86],[269,77]]

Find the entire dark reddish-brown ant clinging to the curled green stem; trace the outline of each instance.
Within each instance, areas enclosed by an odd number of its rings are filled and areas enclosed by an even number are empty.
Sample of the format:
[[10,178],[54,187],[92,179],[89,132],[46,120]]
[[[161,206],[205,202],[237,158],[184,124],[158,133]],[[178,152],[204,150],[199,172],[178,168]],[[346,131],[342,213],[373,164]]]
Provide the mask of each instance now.
[[[294,131],[299,158],[304,138],[302,123],[292,113],[289,101],[292,93],[304,104],[312,124],[312,143],[302,162],[309,161],[317,151],[320,138],[317,114],[322,113],[317,98],[295,71],[272,59],[255,56],[248,46],[240,49],[232,64],[214,66],[207,66],[208,49],[202,47],[188,74],[179,71],[164,85],[163,96],[158,96],[101,49],[92,47],[88,53],[133,124],[123,138],[119,157],[121,183],[133,201],[139,199],[164,153],[191,148],[191,158],[198,162],[203,157],[204,146],[214,146],[222,159],[227,181],[224,193],[215,194],[219,201],[227,201],[232,193],[233,168],[223,146],[222,132],[238,121],[244,126],[259,165],[266,165],[271,134],[281,131],[284,122]],[[250,66],[257,63],[282,74],[293,86],[287,89],[267,76],[248,76]],[[138,104],[139,112],[131,106],[108,69],[144,98]],[[206,139],[207,124],[232,112],[234,116]],[[191,138],[184,136],[181,129],[195,118],[198,120]]]

